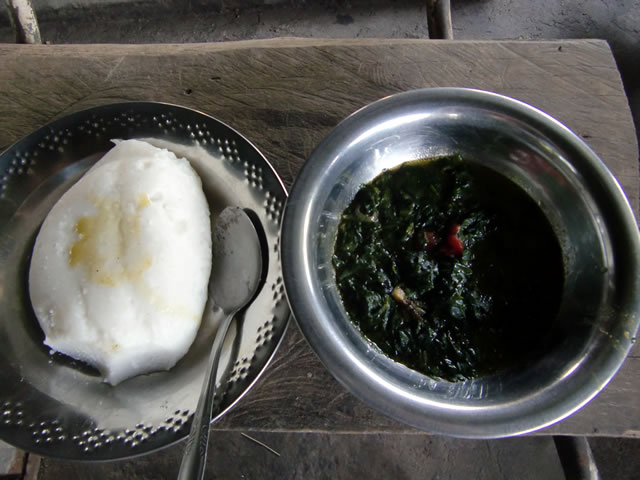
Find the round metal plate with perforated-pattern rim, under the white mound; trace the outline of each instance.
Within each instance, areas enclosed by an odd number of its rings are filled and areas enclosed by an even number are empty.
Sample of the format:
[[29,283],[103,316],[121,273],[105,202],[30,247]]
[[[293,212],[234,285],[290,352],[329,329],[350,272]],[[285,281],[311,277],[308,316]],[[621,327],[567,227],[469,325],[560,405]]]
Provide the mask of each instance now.
[[145,139],[186,157],[202,179],[212,221],[238,205],[262,224],[266,282],[223,347],[214,419],[266,368],[289,319],[279,259],[286,191],[242,135],[203,113],[146,102],[85,110],[39,129],[0,155],[0,438],[40,455],[121,459],[183,439],[219,321],[207,305],[195,342],[174,368],[116,387],[42,343],[27,282],[35,236],[57,199],[116,138]]

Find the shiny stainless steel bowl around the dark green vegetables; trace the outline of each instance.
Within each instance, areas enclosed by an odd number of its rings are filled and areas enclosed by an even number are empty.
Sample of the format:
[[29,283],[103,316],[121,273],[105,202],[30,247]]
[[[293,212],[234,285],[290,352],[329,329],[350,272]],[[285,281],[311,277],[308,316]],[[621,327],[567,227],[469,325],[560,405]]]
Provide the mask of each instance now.
[[[402,162],[452,153],[503,173],[539,203],[566,272],[545,355],[459,383],[395,363],[364,340],[347,318],[331,263],[340,214],[362,183]],[[344,120],[296,180],[281,251],[293,313],[327,368],[366,403],[434,433],[502,437],[567,417],[609,382],[638,330],[640,245],[620,186],[565,126],[489,92],[416,90]]]

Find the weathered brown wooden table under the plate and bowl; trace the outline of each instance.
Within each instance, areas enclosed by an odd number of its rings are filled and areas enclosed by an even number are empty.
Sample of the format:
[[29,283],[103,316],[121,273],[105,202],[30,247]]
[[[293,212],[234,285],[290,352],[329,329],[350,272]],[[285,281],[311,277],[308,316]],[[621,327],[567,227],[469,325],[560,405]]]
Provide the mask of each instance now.
[[[637,215],[636,136],[615,61],[598,40],[0,45],[0,149],[76,110],[170,102],[238,129],[290,186],[345,116],[385,95],[435,86],[492,90],[564,122],[611,168]],[[639,352],[589,405],[541,433],[640,436]],[[259,383],[214,428],[417,433],[349,394],[295,324]]]

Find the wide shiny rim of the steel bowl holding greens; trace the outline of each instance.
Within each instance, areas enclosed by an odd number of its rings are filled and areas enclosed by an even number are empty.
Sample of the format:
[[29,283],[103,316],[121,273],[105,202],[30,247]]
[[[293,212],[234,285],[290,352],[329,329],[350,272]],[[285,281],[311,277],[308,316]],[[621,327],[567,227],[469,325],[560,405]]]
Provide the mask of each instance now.
[[[375,375],[375,367],[371,366],[371,362],[365,366],[364,358],[356,358],[352,352],[340,348],[341,341],[346,341],[345,338],[341,338],[342,335],[332,328],[331,322],[323,321],[319,315],[321,311],[314,305],[315,294],[311,285],[305,281],[310,274],[307,262],[310,258],[310,248],[305,241],[313,203],[308,200],[308,194],[312,185],[322,177],[323,170],[335,160],[337,154],[333,145],[349,138],[352,128],[363,121],[371,122],[371,118],[377,113],[399,108],[408,102],[435,102],[443,105],[452,101],[497,107],[501,113],[506,112],[516,116],[520,121],[525,120],[543,135],[559,139],[575,151],[578,154],[576,158],[584,162],[584,168],[590,169],[590,173],[597,178],[606,192],[607,200],[610,202],[608,212],[612,213],[611,221],[607,223],[614,223],[619,233],[625,236],[630,248],[630,262],[626,265],[628,276],[640,277],[640,236],[634,212],[611,171],[582,139],[555,118],[514,98],[484,90],[440,87],[402,92],[366,105],[340,122],[314,149],[296,177],[284,211],[280,250],[285,291],[296,323],[312,350],[332,375],[360,400],[387,416],[433,433],[465,438],[519,435],[552,425],[588,403],[622,366],[632,347],[632,341],[629,339],[621,345],[623,348],[607,359],[603,367],[604,372],[598,377],[598,381],[594,382],[595,385],[579,385],[577,391],[540,406],[537,413],[529,412],[521,417],[514,417],[513,412],[506,412],[508,417],[499,418],[499,415],[495,416],[495,411],[484,416],[476,415],[477,412],[473,408],[461,408],[456,410],[456,417],[452,423],[451,417],[435,418],[442,410],[431,409],[429,402],[417,402],[413,397],[415,392],[409,392],[407,389],[398,391],[396,386],[385,384],[381,376]],[[634,318],[630,321],[634,332],[640,324],[637,314],[640,312],[640,286],[637,283],[635,282],[630,291],[626,292],[627,297],[631,299],[629,303],[634,307]],[[500,421],[496,421],[497,418]]]

